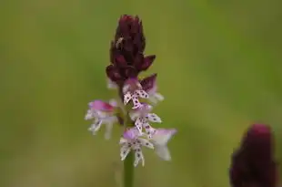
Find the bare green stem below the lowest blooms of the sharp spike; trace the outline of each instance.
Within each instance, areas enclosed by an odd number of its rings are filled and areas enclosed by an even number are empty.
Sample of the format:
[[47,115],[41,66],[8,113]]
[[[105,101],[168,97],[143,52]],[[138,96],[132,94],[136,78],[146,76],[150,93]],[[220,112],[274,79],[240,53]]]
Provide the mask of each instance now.
[[130,151],[124,161],[124,187],[133,187],[134,185],[134,153]]

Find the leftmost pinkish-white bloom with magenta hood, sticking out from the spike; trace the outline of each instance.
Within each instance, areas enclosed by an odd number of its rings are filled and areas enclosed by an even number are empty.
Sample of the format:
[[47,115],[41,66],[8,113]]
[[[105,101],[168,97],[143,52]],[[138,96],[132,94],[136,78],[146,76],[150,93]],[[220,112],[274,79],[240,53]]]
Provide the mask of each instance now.
[[114,99],[109,102],[104,102],[102,100],[94,100],[88,104],[89,109],[86,113],[86,120],[94,119],[94,123],[90,126],[88,130],[92,131],[95,135],[96,131],[100,130],[101,125],[106,125],[105,138],[109,139],[113,129],[113,124],[118,121],[115,115],[115,109],[117,107],[116,101]]

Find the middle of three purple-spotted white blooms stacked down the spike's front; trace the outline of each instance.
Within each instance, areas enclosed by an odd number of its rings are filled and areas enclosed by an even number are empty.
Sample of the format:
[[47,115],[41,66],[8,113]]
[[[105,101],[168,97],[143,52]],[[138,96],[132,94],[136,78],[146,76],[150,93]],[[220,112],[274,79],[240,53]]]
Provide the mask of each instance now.
[[149,121],[156,123],[162,122],[155,113],[150,113],[152,109],[153,107],[151,105],[142,103],[140,108],[133,109],[129,113],[130,118],[135,121],[136,129],[141,133],[142,128],[144,128],[149,139],[152,138],[152,134],[155,132],[155,129],[150,126]]

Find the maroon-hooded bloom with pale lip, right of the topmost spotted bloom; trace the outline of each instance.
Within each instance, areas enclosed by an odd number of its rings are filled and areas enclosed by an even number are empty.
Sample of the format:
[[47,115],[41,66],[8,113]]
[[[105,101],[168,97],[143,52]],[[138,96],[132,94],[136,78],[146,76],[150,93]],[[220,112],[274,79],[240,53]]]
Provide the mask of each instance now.
[[149,95],[149,100],[156,104],[158,101],[164,100],[164,97],[157,93],[157,85],[156,85],[156,73],[142,79],[140,81],[140,84],[142,88],[146,91],[146,93]]

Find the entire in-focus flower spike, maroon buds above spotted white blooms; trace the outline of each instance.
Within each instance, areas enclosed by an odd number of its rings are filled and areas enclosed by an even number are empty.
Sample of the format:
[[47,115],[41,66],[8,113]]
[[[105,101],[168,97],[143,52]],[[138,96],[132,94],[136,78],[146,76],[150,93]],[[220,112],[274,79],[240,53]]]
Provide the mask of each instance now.
[[145,163],[143,147],[155,150],[160,158],[169,161],[171,158],[166,144],[176,133],[175,129],[151,126],[151,123],[162,122],[152,109],[164,97],[157,92],[156,74],[138,78],[140,72],[149,68],[156,58],[155,55],[145,56],[145,47],[142,21],[137,16],[121,16],[115,39],[111,42],[111,64],[106,67],[108,88],[117,90],[118,99],[92,101],[86,113],[87,120],[94,120],[89,128],[93,134],[105,124],[106,139],[110,138],[115,123],[125,126],[119,141],[120,157],[124,161],[133,151],[135,166],[140,161],[142,165]]

